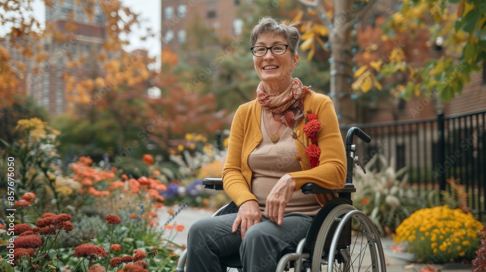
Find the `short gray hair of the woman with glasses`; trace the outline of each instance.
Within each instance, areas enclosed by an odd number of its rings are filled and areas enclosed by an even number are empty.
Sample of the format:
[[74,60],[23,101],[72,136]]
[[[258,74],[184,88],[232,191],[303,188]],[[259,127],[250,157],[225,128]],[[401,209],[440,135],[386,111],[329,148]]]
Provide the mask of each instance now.
[[250,33],[250,47],[255,46],[260,34],[271,32],[275,35],[282,35],[289,43],[289,49],[292,56],[297,53],[297,46],[300,41],[300,32],[298,26],[295,24],[285,25],[278,23],[274,18],[265,16],[260,19],[258,24],[253,27]]

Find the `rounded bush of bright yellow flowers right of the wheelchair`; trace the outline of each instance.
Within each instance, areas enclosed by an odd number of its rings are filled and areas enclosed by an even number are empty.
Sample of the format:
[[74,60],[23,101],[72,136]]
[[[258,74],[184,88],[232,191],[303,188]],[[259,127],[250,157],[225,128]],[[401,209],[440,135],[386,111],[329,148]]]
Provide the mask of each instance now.
[[402,221],[395,243],[408,242],[408,251],[421,261],[444,263],[473,259],[480,243],[480,221],[449,206],[420,209]]

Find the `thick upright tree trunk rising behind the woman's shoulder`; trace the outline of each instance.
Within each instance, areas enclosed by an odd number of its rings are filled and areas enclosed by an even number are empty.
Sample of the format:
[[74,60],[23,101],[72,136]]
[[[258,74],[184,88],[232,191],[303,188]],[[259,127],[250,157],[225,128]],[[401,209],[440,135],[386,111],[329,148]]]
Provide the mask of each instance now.
[[330,27],[330,97],[340,124],[356,122],[356,103],[351,100],[351,5],[354,0],[334,1],[333,27]]

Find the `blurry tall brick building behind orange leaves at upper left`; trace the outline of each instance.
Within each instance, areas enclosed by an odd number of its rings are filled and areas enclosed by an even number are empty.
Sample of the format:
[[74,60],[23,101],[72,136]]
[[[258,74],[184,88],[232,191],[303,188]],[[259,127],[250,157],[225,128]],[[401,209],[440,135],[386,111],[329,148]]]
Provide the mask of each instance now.
[[[76,0],[53,0],[52,7],[46,7],[46,24],[52,24],[54,31],[67,34],[68,39],[57,39],[46,35],[41,44],[49,59],[39,68],[34,68],[26,80],[29,94],[45,106],[52,116],[66,112],[73,98],[67,97],[63,74],[89,73],[95,66],[96,53],[101,51],[105,39],[104,15],[97,5],[93,16],[87,16],[86,3]],[[83,71],[68,67],[71,60],[85,58]]]

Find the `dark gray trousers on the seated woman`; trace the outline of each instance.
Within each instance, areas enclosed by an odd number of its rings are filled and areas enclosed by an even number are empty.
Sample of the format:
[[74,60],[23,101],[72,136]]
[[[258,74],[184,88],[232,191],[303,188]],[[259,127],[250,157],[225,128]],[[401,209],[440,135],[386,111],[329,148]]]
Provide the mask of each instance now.
[[236,213],[203,218],[189,229],[186,272],[220,272],[243,267],[244,272],[275,271],[282,255],[295,252],[305,238],[312,217],[290,213],[283,224],[262,217],[242,241],[240,228],[231,232]]

